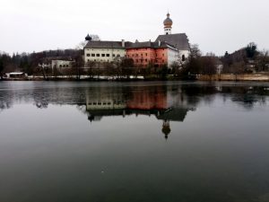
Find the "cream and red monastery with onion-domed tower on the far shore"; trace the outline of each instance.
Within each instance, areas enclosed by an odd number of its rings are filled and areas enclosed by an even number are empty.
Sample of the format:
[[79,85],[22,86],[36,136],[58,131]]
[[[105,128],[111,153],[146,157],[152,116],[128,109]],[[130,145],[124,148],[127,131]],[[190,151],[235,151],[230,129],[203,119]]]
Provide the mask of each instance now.
[[134,66],[172,66],[184,62],[190,54],[189,42],[185,33],[172,33],[173,21],[167,14],[164,20],[164,34],[155,41],[135,42],[91,40],[88,35],[84,50],[84,62],[112,62],[120,58],[132,58]]

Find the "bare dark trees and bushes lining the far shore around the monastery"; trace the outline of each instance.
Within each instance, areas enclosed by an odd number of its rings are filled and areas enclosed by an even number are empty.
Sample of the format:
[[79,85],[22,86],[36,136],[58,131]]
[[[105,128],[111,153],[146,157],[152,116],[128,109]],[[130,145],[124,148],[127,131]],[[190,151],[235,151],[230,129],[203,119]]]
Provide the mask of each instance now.
[[[61,75],[75,77],[80,79],[82,75],[87,75],[90,79],[100,78],[102,75],[116,77],[118,79],[129,78],[132,76],[143,75],[145,78],[165,79],[168,75],[175,78],[192,78],[195,75],[215,75],[219,74],[216,66],[221,65],[221,73],[224,74],[250,74],[255,72],[269,71],[268,51],[258,51],[256,43],[251,42],[245,48],[240,48],[233,53],[226,53],[221,57],[216,57],[213,53],[207,53],[203,56],[198,45],[191,45],[190,55],[186,61],[174,63],[171,66],[155,66],[149,63],[148,66],[134,66],[131,58],[115,58],[112,62],[83,62],[83,50],[65,49],[48,50],[42,52],[33,52],[30,54],[13,54],[9,56],[0,52],[0,76],[4,73],[13,71],[22,71],[28,75],[42,75],[44,79],[53,76],[57,78]],[[72,58],[71,68],[52,69],[51,66],[39,66],[49,58]]]

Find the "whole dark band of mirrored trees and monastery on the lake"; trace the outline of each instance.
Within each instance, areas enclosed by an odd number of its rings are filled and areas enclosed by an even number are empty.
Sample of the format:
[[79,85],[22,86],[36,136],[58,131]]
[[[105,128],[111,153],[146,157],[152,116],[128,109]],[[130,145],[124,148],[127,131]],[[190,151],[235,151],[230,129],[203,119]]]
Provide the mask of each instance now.
[[[49,104],[77,105],[92,122],[108,116],[147,115],[162,120],[168,138],[170,121],[183,122],[199,103],[210,104],[216,95],[251,110],[266,103],[267,83],[1,83],[0,109],[33,102],[39,109]],[[1,112],[1,111],[0,111]]]

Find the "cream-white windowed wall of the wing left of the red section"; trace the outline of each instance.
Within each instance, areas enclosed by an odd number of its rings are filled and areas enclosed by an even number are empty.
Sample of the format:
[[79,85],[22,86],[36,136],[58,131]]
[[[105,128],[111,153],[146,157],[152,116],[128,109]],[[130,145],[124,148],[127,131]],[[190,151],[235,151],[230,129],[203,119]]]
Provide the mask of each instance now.
[[125,48],[84,48],[84,62],[112,62],[116,57],[126,57]]

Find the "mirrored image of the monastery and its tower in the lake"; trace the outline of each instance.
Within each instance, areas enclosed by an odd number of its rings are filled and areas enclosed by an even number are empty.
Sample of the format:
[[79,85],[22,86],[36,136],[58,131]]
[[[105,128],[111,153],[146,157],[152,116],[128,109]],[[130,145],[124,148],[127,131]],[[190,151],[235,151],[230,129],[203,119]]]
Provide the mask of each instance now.
[[[177,100],[178,103],[178,100]],[[190,108],[183,102],[174,105],[173,99],[161,86],[143,88],[128,92],[95,92],[86,97],[86,110],[90,121],[100,121],[102,117],[122,116],[135,114],[155,116],[162,120],[162,133],[168,138],[170,133],[169,121],[183,121]]]

